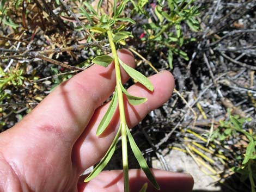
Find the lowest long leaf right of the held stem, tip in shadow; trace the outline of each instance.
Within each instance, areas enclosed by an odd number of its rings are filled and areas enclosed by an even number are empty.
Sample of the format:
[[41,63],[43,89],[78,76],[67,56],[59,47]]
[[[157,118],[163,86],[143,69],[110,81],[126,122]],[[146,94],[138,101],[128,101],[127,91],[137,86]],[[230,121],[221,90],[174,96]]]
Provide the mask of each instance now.
[[148,177],[149,181],[154,185],[154,187],[157,190],[160,190],[159,184],[157,183],[155,177],[151,173],[146,160],[144,159],[141,151],[139,150],[138,146],[136,145],[135,140],[133,139],[132,134],[131,134],[131,132],[130,132],[130,130],[127,126],[126,126],[126,132],[127,132],[127,136],[128,136],[128,139],[129,139],[129,143],[130,143],[132,152],[134,153],[134,155],[135,155],[135,157],[136,157],[136,159],[139,163],[139,166],[141,166],[145,175]]

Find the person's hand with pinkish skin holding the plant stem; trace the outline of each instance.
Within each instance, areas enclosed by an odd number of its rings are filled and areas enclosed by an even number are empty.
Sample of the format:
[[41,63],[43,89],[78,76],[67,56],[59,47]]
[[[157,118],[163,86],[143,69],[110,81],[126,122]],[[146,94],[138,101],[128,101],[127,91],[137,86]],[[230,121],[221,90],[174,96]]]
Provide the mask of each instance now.
[[[135,67],[126,49],[119,57]],[[123,82],[129,76],[122,70]],[[135,126],[151,110],[172,95],[173,76],[168,71],[149,77],[155,90],[132,85],[132,95],[148,101],[130,106],[125,100],[127,124]],[[115,88],[114,65],[93,65],[60,84],[30,114],[0,134],[0,191],[123,191],[121,170],[103,171],[88,183],[82,172],[106,153],[118,129],[118,110],[106,131],[96,137],[96,129],[108,104],[102,103]],[[191,191],[193,178],[188,174],[153,169],[161,191]],[[139,191],[148,182],[143,171],[130,170],[130,191]],[[147,191],[156,191],[151,184]]]

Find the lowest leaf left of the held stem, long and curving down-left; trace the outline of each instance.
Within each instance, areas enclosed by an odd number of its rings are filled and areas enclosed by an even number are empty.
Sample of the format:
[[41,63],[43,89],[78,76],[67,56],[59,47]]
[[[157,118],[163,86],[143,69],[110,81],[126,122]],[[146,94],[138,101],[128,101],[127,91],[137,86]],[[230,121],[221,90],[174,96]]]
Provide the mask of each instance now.
[[105,156],[101,159],[100,163],[95,166],[93,171],[90,173],[90,175],[84,179],[84,182],[88,182],[92,180],[94,177],[100,174],[100,172],[105,168],[111,157],[113,156],[113,153],[115,151],[115,146],[117,145],[117,141],[120,135],[121,127],[119,127],[117,134],[115,135],[114,140],[112,141],[111,146],[108,148],[107,153]]

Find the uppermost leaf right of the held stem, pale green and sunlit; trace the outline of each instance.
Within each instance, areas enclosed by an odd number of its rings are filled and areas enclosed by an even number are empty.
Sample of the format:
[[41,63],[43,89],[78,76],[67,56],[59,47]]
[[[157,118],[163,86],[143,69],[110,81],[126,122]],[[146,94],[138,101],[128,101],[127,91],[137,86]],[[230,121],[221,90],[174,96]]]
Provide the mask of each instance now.
[[132,67],[126,65],[123,61],[121,61],[121,59],[118,59],[119,63],[121,64],[121,66],[123,67],[123,69],[128,73],[128,75],[137,80],[139,83],[143,84],[148,90],[153,91],[154,90],[154,86],[153,84],[150,82],[150,80],[145,77],[144,75],[142,75],[142,73],[136,71],[135,69],[133,69]]

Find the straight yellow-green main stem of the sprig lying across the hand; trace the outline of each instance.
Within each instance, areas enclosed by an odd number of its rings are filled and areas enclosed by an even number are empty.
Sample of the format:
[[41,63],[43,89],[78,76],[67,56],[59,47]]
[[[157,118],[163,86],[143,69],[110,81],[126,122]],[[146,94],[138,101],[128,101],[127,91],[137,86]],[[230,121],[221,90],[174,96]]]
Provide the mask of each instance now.
[[118,104],[120,113],[120,125],[121,125],[121,140],[122,140],[122,156],[123,156],[123,171],[124,171],[124,191],[129,192],[129,172],[128,172],[128,156],[127,156],[127,133],[126,133],[126,120],[124,110],[123,92],[119,82],[121,81],[120,65],[118,61],[117,49],[113,41],[113,34],[111,30],[107,31],[109,44],[114,58],[115,65],[115,77],[117,81],[117,93],[118,93]]

